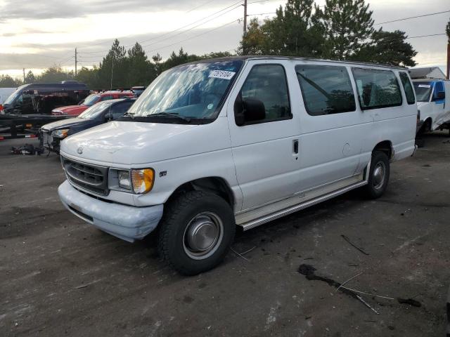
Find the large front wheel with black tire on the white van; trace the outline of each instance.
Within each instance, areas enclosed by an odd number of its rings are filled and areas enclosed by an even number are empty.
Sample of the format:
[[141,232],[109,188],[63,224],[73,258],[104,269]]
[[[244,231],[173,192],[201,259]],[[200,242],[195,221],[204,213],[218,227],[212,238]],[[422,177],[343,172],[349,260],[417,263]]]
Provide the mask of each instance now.
[[[196,220],[197,217],[208,216],[211,216],[211,223],[216,227],[221,226],[219,228],[221,234],[217,234],[217,242],[207,253],[194,251],[188,244],[188,229],[200,221]],[[160,256],[184,275],[197,275],[221,263],[236,232],[235,218],[230,205],[218,195],[203,191],[186,192],[170,201],[158,227],[160,227],[158,234]]]

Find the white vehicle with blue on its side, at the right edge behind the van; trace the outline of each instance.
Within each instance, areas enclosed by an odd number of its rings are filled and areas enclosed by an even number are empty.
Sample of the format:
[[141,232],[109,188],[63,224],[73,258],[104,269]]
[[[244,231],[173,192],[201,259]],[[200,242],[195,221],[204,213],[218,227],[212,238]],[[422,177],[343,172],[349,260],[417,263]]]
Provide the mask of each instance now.
[[418,132],[450,130],[450,81],[418,79],[413,86],[420,115]]

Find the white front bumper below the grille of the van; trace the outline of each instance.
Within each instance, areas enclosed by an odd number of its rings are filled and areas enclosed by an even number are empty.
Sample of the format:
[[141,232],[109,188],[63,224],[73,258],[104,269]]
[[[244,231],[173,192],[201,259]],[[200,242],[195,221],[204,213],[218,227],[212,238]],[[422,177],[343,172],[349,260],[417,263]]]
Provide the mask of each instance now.
[[135,207],[106,202],[79,192],[65,180],[58,187],[61,202],[75,216],[115,237],[134,242],[152,232],[164,206]]

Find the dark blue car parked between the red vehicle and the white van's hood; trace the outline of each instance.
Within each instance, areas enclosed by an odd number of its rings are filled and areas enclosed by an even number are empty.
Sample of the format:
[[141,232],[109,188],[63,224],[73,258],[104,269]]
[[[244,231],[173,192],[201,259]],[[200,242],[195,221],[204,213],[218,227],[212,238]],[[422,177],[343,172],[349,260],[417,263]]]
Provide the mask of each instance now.
[[59,152],[61,140],[79,131],[122,117],[135,100],[135,98],[119,98],[99,102],[76,118],[61,119],[46,124],[39,131],[41,146],[49,151]]

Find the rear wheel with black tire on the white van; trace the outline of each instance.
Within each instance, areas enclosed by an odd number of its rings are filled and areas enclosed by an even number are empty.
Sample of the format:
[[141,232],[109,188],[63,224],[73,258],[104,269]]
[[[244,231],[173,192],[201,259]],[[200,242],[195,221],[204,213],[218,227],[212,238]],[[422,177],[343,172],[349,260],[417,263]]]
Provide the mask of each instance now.
[[[384,170],[384,178],[380,181],[379,176],[375,177],[375,170]],[[368,172],[368,184],[364,187],[366,196],[369,199],[377,199],[383,195],[386,190],[390,176],[389,158],[385,152],[375,151],[372,154],[371,168]]]

